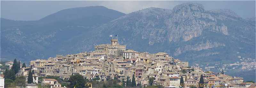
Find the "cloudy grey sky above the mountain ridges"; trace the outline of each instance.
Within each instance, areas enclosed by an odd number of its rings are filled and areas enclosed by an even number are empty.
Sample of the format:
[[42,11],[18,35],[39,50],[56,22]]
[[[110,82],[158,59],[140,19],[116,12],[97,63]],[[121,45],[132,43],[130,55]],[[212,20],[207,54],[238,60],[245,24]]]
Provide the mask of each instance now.
[[105,6],[125,14],[148,7],[172,9],[186,3],[201,3],[205,10],[231,9],[243,18],[255,17],[255,0],[253,1],[0,1],[1,18],[31,21],[56,13],[62,9]]

